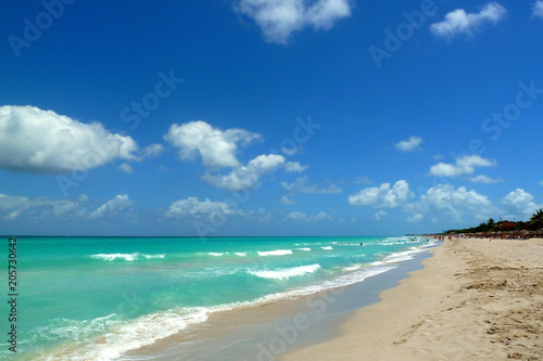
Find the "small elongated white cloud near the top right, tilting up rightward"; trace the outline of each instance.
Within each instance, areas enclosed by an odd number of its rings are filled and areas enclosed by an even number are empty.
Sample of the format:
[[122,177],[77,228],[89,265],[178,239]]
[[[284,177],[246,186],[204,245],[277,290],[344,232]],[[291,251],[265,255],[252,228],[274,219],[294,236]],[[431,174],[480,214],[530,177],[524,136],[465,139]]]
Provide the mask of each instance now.
[[441,37],[453,38],[456,34],[472,35],[472,30],[484,23],[496,24],[507,10],[497,2],[489,2],[479,13],[466,13],[464,9],[457,9],[445,15],[445,20],[430,26],[430,30]]

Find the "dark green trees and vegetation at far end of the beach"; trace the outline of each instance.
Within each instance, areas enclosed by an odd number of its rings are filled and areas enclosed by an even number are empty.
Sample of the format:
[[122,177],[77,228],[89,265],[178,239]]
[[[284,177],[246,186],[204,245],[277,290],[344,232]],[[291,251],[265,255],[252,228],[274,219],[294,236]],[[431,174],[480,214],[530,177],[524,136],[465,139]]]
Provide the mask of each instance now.
[[443,234],[456,233],[495,233],[495,234],[525,234],[525,235],[542,235],[543,234],[543,209],[536,210],[529,221],[495,221],[490,218],[487,222],[464,230],[449,230]]

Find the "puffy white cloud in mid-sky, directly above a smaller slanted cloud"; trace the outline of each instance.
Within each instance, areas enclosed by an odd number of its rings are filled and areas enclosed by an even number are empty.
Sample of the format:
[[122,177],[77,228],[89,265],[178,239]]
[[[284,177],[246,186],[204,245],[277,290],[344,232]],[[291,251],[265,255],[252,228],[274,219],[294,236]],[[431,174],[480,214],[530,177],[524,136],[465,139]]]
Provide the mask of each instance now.
[[240,165],[236,153],[239,145],[248,145],[261,136],[244,129],[220,130],[205,121],[174,124],[164,139],[179,149],[184,160],[194,160],[200,154],[205,167],[220,169]]

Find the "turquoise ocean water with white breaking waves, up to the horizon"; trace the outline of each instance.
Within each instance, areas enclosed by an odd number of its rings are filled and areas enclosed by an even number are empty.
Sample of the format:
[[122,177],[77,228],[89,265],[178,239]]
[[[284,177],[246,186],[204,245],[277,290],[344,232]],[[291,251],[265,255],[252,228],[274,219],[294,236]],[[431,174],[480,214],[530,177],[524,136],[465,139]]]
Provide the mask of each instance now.
[[[17,241],[17,353],[2,338],[2,360],[115,360],[213,312],[363,282],[432,245],[424,237]],[[2,314],[2,330],[7,321]]]

